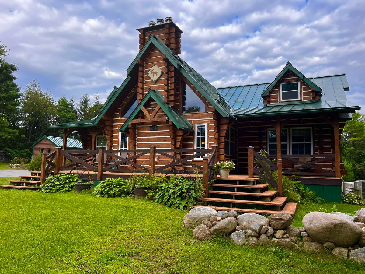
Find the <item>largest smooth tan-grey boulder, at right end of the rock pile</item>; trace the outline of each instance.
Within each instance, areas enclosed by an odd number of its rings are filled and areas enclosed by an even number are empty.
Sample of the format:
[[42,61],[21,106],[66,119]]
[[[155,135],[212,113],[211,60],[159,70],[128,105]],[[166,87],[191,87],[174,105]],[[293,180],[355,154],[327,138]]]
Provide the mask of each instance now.
[[361,237],[361,228],[347,218],[326,212],[310,212],[303,218],[303,225],[313,241],[335,246],[353,246]]

